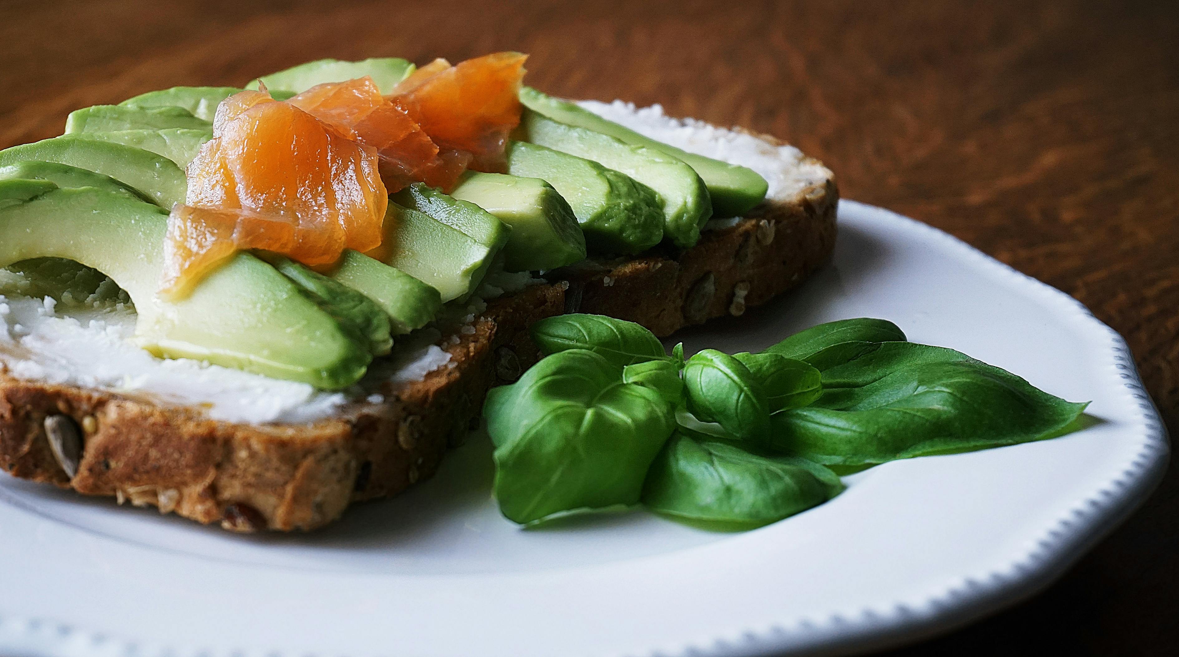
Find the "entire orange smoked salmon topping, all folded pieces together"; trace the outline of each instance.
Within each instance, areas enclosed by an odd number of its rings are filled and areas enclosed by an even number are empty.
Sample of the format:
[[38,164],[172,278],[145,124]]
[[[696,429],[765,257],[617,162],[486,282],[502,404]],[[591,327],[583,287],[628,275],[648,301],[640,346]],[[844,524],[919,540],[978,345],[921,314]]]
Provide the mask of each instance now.
[[213,138],[189,164],[169,217],[160,294],[185,294],[244,249],[308,265],[381,244],[389,192],[422,182],[448,191],[468,167],[506,170],[527,55],[452,66],[436,59],[382,96],[371,78],[314,86],[278,101],[243,91],[217,106]]

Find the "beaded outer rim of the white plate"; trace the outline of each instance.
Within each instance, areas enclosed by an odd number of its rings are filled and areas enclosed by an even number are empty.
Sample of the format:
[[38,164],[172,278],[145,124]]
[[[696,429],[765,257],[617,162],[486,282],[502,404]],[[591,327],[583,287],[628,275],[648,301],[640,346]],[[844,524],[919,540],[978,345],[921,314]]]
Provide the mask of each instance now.
[[[839,201],[839,213],[852,212],[871,221],[903,224],[905,229],[923,234],[943,244],[949,252],[968,259],[971,267],[989,270],[1019,283],[1039,296],[1038,301],[1052,304],[1062,316],[1071,315],[1078,327],[1089,335],[1105,337],[1120,383],[1135,402],[1137,422],[1126,428],[1139,439],[1139,449],[1131,467],[1105,487],[1078,500],[1068,513],[1046,526],[1033,547],[1017,559],[988,564],[982,577],[964,576],[947,585],[938,593],[930,593],[918,606],[894,602],[885,613],[863,605],[854,613],[832,613],[814,623],[776,622],[769,626],[742,629],[737,636],[712,631],[712,639],[677,642],[672,655],[712,657],[755,657],[775,651],[790,653],[834,655],[880,650],[946,633],[983,616],[1014,605],[1046,589],[1063,574],[1081,556],[1115,530],[1161,481],[1170,460],[1166,427],[1146,392],[1133,355],[1125,339],[1099,320],[1081,302],[1068,294],[1028,276],[1010,265],[980,251],[964,241],[917,219],[884,208],[850,199]],[[791,626],[792,625],[792,626]],[[8,637],[8,638],[6,638]],[[21,640],[24,639],[24,640]],[[8,643],[15,642],[15,643]],[[83,652],[78,650],[81,646]],[[5,617],[0,615],[0,648],[32,653],[103,653],[111,656],[143,655],[147,648],[132,637],[113,637],[100,630],[79,628],[51,618]],[[160,652],[177,653],[176,645],[159,645]],[[237,655],[255,653],[238,649]],[[21,653],[21,652],[19,652]],[[204,655],[212,651],[202,651]],[[308,651],[286,649],[266,650],[268,656],[310,655]],[[667,655],[658,648],[631,651],[627,655]]]

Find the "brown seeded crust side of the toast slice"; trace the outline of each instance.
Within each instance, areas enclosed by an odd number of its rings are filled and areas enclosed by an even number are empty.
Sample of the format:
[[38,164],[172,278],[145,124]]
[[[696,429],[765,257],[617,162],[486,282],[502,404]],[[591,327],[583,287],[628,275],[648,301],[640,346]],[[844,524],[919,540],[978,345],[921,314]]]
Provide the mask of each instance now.
[[381,402],[356,402],[311,423],[215,421],[196,408],[0,372],[0,468],[231,531],[314,530],[353,501],[430,477],[448,446],[477,428],[488,388],[538,360],[528,337],[534,321],[595,313],[667,336],[742,315],[830,259],[837,202],[828,177],[706,230],[691,249],[660,247],[551,272],[547,284],[489,302],[474,333],[446,336],[440,346],[452,367],[386,383]]

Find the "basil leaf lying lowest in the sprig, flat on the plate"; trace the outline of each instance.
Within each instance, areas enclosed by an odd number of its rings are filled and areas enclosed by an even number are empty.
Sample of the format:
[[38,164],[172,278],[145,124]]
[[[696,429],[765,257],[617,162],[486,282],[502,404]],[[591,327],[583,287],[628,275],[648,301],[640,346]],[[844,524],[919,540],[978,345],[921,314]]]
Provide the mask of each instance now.
[[747,530],[823,504],[841,491],[835,473],[805,459],[758,456],[677,432],[651,465],[643,504],[713,528]]

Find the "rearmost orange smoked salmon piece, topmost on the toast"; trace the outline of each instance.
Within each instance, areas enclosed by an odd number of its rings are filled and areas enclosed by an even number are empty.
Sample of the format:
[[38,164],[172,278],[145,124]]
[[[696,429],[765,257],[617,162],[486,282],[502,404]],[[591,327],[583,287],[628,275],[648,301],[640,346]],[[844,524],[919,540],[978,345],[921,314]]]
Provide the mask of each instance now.
[[444,59],[415,71],[393,88],[440,149],[472,155],[476,171],[506,172],[508,133],[520,124],[519,99],[528,55],[501,52],[450,66]]

